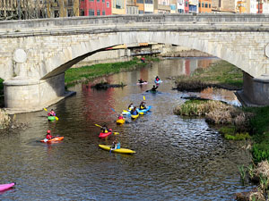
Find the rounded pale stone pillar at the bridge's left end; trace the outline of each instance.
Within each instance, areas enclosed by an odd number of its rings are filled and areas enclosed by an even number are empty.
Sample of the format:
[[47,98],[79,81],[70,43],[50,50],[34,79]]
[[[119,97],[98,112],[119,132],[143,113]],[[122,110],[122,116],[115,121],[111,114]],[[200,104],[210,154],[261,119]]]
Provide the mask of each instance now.
[[65,73],[36,80],[17,76],[4,81],[4,107],[9,110],[37,111],[65,96]]

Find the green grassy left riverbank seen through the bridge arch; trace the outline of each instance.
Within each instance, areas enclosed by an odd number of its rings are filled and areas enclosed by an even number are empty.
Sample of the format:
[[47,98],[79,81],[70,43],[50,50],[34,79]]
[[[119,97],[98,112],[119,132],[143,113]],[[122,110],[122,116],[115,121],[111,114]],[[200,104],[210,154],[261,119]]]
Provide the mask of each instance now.
[[152,62],[159,61],[157,57],[146,56],[144,58],[144,63],[135,57],[132,61],[124,63],[99,63],[81,68],[68,69],[65,71],[65,85],[69,86],[78,82],[94,80],[101,76],[107,76],[120,71],[134,71],[149,66]]

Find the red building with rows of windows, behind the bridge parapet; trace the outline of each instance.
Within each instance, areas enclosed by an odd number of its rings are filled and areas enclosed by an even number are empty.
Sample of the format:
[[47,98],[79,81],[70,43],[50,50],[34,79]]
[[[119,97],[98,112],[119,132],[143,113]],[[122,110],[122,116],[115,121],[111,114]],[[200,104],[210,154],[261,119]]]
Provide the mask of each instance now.
[[81,16],[111,15],[111,0],[82,0],[80,1]]

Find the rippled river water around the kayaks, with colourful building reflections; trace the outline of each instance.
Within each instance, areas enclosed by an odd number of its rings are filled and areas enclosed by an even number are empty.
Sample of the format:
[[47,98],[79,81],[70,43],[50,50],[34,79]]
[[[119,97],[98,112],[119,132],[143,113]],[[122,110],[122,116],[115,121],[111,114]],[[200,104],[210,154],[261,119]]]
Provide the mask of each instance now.
[[[253,188],[239,180],[239,165],[250,163],[242,143],[228,141],[204,119],[187,119],[173,114],[173,108],[193,96],[171,90],[168,78],[190,74],[195,68],[213,63],[213,58],[167,59],[138,71],[121,72],[102,78],[124,82],[125,88],[96,90],[91,84],[77,84],[75,96],[52,105],[59,121],[48,122],[46,112],[17,115],[28,122],[22,130],[0,133],[0,180],[15,181],[16,187],[2,192],[0,200],[233,200],[236,192]],[[159,93],[152,88],[161,77]],[[142,78],[148,85],[136,85]],[[197,96],[213,97],[239,105],[232,92],[207,89]],[[117,112],[145,97],[152,112],[117,126]],[[107,123],[119,132],[98,138]],[[43,144],[47,130],[64,136],[56,144]],[[120,155],[101,150],[117,138],[121,147],[136,151]]]

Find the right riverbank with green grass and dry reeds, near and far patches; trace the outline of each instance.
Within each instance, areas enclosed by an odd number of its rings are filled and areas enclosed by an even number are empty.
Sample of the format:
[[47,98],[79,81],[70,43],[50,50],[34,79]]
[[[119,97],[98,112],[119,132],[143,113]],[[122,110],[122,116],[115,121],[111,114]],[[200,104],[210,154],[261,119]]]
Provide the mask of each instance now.
[[[242,73],[227,63],[213,64],[207,70],[195,71],[190,77],[176,80],[178,90],[199,90],[214,87],[236,89],[243,82]],[[213,71],[210,71],[213,70]],[[183,81],[182,81],[183,80]],[[199,83],[197,84],[197,81]],[[184,84],[182,84],[184,83]],[[195,83],[195,84],[194,84]],[[194,87],[195,86],[195,87]],[[198,86],[198,87],[197,87]],[[202,87],[201,87],[202,86]],[[236,107],[213,100],[187,100],[178,105],[174,113],[193,117],[205,118],[213,128],[228,140],[243,140],[244,149],[252,154],[253,163],[247,167],[240,165],[239,174],[242,184],[254,182],[258,188],[251,192],[237,193],[237,200],[266,200],[269,189],[269,106],[265,107]]]

